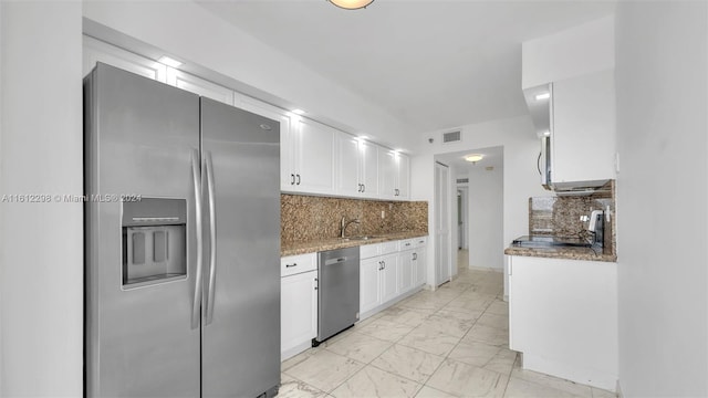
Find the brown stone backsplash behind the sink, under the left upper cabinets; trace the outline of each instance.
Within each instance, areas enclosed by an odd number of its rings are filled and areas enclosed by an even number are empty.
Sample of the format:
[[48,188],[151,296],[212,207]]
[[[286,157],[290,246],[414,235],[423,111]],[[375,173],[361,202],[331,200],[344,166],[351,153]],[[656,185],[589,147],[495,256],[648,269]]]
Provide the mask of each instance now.
[[282,193],[280,207],[283,245],[336,238],[340,235],[342,217],[347,221],[361,221],[346,228],[347,235],[409,231],[427,234],[428,231],[426,201],[396,202]]

